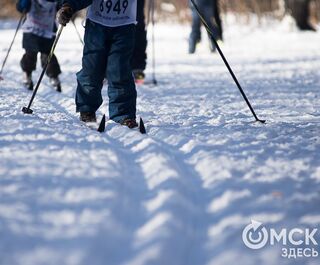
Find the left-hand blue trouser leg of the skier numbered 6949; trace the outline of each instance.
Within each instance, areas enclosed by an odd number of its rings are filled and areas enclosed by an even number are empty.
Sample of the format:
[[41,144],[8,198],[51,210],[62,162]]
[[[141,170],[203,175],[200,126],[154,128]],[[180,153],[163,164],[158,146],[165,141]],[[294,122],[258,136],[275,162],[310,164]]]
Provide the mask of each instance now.
[[82,69],[77,73],[77,112],[96,112],[102,104],[101,89],[108,54],[106,34],[106,27],[87,20]]

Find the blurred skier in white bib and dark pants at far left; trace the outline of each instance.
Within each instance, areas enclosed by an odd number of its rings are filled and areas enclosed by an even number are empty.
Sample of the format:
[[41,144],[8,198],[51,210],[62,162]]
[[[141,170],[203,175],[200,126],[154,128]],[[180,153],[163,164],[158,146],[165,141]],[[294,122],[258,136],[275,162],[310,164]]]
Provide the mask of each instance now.
[[[33,90],[32,72],[36,70],[39,52],[42,67],[47,62],[57,31],[56,12],[60,5],[60,1],[55,0],[19,0],[17,2],[17,10],[26,13],[26,20],[22,26],[22,47],[25,53],[20,66],[24,72],[23,84],[29,90]],[[59,80],[61,69],[55,55],[52,56],[46,74],[50,84],[61,92]]]

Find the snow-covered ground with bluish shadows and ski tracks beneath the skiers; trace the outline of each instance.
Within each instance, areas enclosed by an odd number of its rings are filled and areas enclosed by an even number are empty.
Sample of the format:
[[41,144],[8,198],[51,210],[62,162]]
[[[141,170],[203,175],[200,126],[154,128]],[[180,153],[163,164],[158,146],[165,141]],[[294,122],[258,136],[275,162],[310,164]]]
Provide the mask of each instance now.
[[[0,22],[1,63],[14,27]],[[226,25],[222,49],[261,125],[206,40],[190,56],[188,27],[156,30],[159,85],[138,87],[147,136],[78,122],[71,25],[56,52],[63,93],[45,78],[22,114],[18,35],[0,83],[0,264],[319,264],[250,250],[242,231],[319,228],[320,34]]]

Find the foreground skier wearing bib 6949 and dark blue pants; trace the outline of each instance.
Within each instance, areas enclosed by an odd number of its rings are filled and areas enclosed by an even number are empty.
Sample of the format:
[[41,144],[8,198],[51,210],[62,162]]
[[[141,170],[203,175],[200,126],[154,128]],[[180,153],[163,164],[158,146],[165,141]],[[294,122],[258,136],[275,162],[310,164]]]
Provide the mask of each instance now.
[[137,91],[131,68],[135,45],[137,0],[64,0],[58,21],[65,26],[73,14],[88,7],[82,69],[77,73],[76,111],[83,122],[96,122],[108,80],[109,119],[137,127]]

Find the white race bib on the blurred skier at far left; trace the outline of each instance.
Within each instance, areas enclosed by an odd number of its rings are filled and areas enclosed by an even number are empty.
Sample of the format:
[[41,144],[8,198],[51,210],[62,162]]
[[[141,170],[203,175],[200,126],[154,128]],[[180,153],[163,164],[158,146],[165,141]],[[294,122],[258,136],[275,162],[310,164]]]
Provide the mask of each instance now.
[[57,12],[56,2],[32,0],[31,9],[23,24],[23,31],[39,37],[51,39],[54,36],[53,27]]

